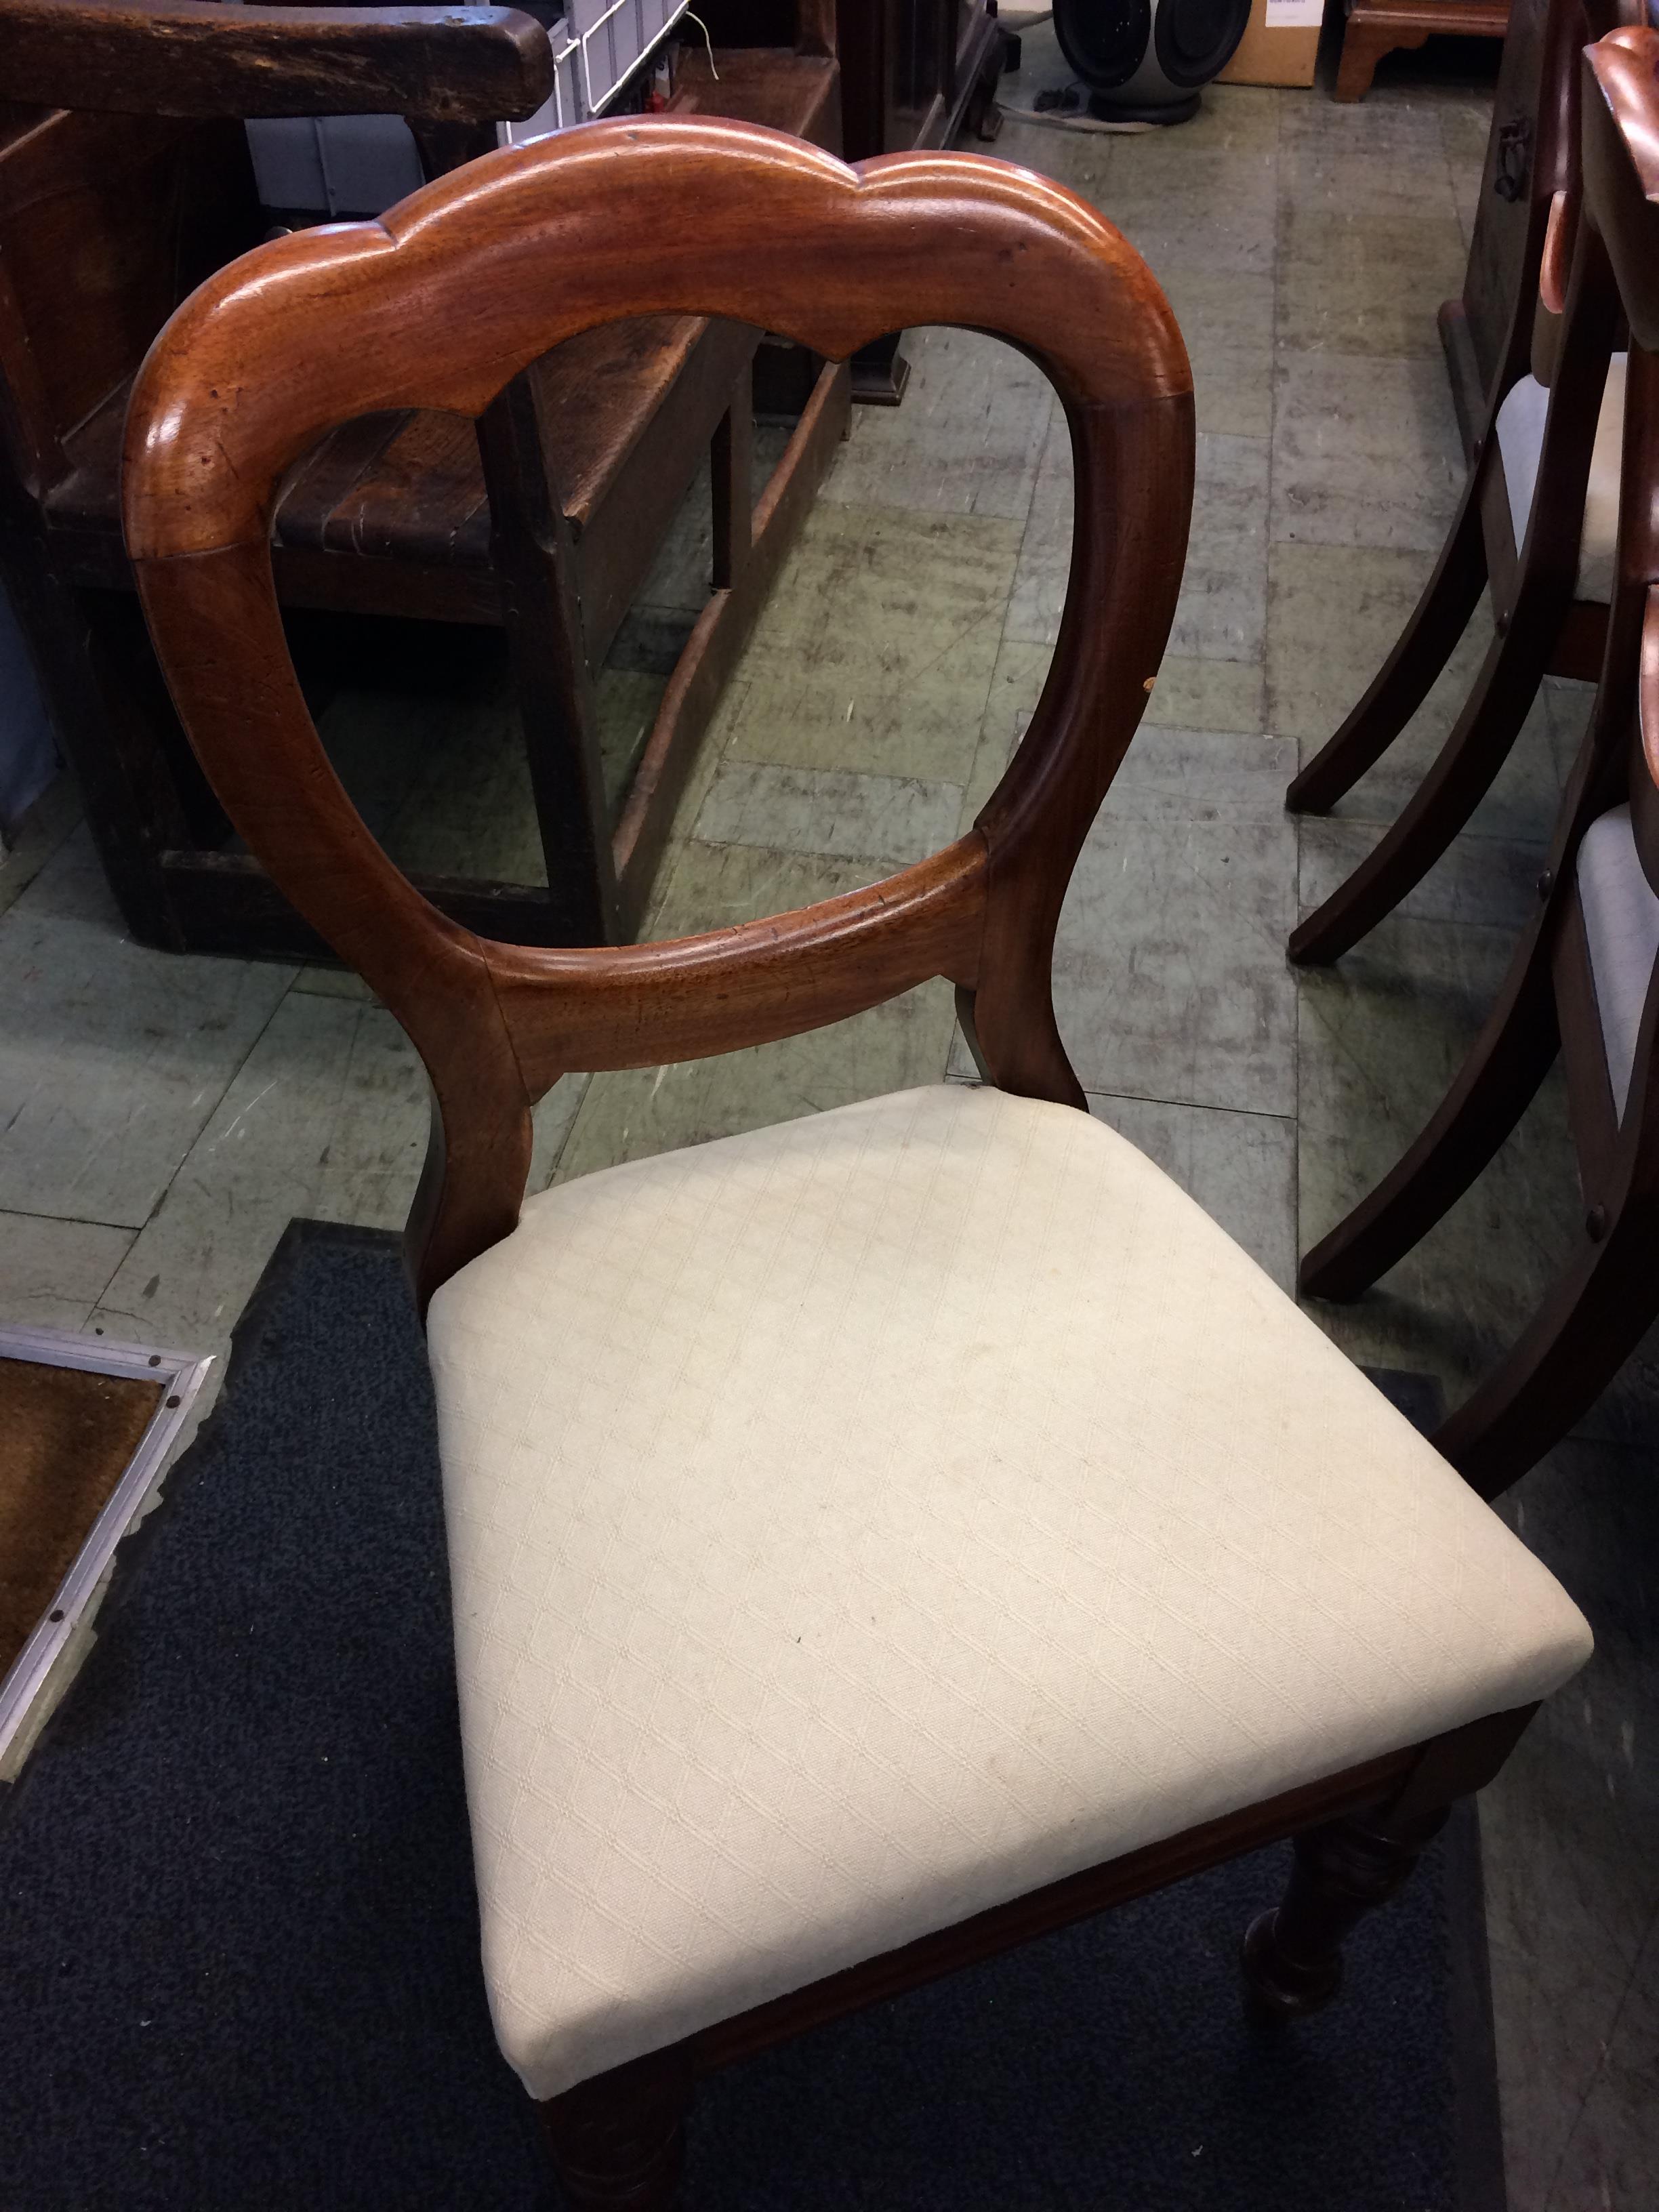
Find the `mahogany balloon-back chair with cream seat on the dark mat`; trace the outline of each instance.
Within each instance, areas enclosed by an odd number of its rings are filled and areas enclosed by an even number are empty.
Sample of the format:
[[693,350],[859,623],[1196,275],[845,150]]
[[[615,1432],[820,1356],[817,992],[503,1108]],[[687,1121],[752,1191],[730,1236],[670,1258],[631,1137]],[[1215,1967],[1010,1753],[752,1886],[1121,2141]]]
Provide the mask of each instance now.
[[[973,325],[1042,363],[1077,469],[1053,670],[973,830],[885,883],[666,945],[491,942],[327,770],[272,500],[341,416],[476,416],[560,338],[695,312],[830,358]],[[1276,1836],[1296,1871],[1248,1980],[1312,2011],[1586,1655],[1498,1517],[1079,1110],[1055,925],[1164,655],[1190,493],[1181,338],[1099,215],[975,157],[847,170],[737,124],[595,124],[385,230],[265,246],[133,392],[126,531],[190,741],[431,1073],[409,1254],[484,1971],[573,2205],[670,2201],[710,2066]],[[982,1088],[520,1214],[562,1071],[794,1035],[931,975]]]

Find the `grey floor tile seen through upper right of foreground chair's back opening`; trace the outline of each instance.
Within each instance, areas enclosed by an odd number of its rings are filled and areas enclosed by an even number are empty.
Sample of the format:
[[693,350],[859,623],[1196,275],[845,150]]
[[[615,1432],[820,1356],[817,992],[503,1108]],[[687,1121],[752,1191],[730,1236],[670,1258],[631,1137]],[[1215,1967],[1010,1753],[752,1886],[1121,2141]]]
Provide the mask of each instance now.
[[911,330],[902,407],[856,407],[821,498],[1024,522],[1053,392],[1042,369],[971,330]]

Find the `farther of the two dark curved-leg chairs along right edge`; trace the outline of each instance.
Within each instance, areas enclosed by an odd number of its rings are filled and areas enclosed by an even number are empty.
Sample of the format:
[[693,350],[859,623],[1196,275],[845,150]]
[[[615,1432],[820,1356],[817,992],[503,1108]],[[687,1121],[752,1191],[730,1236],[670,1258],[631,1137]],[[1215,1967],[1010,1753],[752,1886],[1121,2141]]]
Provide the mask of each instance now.
[[[1354,874],[1290,936],[1298,967],[1338,960],[1422,880],[1509,759],[1544,675],[1595,677],[1606,635],[1624,361],[1604,296],[1568,301],[1579,210],[1577,55],[1619,0],[1551,0],[1537,122],[1517,190],[1526,252],[1458,513],[1398,644],[1340,730],[1292,779],[1327,814],[1429,695],[1491,584],[1495,635],[1433,768]],[[1562,334],[1575,323],[1575,347]]]

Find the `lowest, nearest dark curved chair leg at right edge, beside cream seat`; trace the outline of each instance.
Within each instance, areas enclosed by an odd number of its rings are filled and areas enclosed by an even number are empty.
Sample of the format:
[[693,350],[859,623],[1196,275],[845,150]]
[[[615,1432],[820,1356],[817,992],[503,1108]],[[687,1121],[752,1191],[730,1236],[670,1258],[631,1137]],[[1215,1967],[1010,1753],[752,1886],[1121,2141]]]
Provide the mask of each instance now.
[[1431,1438],[1482,1498],[1520,1482],[1588,1413],[1659,1318],[1652,1214],[1626,1208],[1601,1239],[1599,1225],[1599,1208],[1590,1208],[1573,1265]]

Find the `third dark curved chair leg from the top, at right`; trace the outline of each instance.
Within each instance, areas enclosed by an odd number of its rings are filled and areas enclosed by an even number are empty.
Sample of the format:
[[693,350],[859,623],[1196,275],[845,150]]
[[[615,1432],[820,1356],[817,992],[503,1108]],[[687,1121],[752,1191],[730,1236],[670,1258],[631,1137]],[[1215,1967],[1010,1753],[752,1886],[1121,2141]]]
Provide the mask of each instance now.
[[1544,1082],[1559,1029],[1551,916],[1540,914],[1509,964],[1498,1004],[1416,1144],[1303,1259],[1307,1298],[1358,1298],[1464,1194]]

